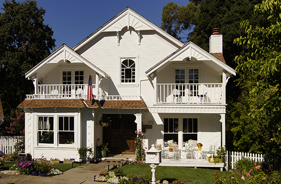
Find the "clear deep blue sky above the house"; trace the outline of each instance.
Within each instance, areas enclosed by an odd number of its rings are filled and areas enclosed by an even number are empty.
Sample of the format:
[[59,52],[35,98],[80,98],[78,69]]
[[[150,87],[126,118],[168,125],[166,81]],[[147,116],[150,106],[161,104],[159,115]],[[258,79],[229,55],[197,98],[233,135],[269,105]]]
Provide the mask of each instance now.
[[[4,0],[0,0],[1,7],[3,2]],[[62,44],[74,47],[126,7],[160,27],[162,8],[170,2],[171,0],[37,0],[37,5],[46,10],[44,24],[52,27],[57,49]],[[173,2],[179,6],[189,3],[188,0]]]

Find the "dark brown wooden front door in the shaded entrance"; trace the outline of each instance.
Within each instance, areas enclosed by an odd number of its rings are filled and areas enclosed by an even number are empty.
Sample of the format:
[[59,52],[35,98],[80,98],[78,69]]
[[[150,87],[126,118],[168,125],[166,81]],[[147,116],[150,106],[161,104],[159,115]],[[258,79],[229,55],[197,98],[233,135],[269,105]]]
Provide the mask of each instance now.
[[108,142],[110,154],[134,154],[136,131],[133,114],[108,114],[111,125],[103,128],[103,140]]

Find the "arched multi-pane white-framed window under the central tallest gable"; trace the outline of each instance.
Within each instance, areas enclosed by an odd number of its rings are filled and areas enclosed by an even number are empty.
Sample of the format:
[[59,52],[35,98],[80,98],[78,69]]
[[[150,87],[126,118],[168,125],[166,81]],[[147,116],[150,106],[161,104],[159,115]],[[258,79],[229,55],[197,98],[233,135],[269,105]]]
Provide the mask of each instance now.
[[121,63],[121,82],[135,82],[135,62],[132,59],[125,59]]

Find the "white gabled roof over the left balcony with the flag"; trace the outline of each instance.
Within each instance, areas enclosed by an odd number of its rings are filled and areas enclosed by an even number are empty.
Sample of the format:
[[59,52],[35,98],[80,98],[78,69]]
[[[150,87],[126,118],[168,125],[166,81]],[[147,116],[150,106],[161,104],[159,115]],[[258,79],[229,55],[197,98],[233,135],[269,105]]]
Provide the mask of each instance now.
[[57,50],[55,50],[52,54],[50,54],[48,57],[46,57],[42,62],[37,64],[35,67],[33,67],[30,71],[26,73],[26,77],[33,79],[35,78],[35,75],[37,74],[37,77],[39,76],[44,77],[46,74],[48,74],[51,70],[56,68],[61,63],[68,63],[68,64],[85,64],[92,70],[96,71],[101,77],[108,78],[109,76],[100,70],[95,65],[88,62],[87,59],[73,51],[71,48],[69,48],[67,45],[63,44],[60,46]]

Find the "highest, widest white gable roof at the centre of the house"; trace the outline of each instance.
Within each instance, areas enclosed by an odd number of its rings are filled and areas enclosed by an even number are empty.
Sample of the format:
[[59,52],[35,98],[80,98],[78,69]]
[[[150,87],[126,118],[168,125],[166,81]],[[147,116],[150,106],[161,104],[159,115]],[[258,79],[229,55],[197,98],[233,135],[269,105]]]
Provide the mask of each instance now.
[[177,39],[166,33],[160,27],[158,27],[157,25],[150,22],[142,15],[139,15],[138,13],[127,7],[125,10],[123,10],[118,15],[110,19],[103,26],[98,28],[95,32],[93,32],[91,35],[89,35],[87,38],[85,38],[83,41],[81,41],[79,44],[73,47],[73,50],[78,51],[80,48],[82,48],[84,45],[89,43],[91,40],[93,40],[103,32],[119,32],[124,27],[129,28],[129,26],[133,27],[135,30],[140,30],[140,31],[155,30],[158,34],[167,38],[178,47],[181,47],[183,45],[183,43],[181,43],[180,41],[178,41]]

